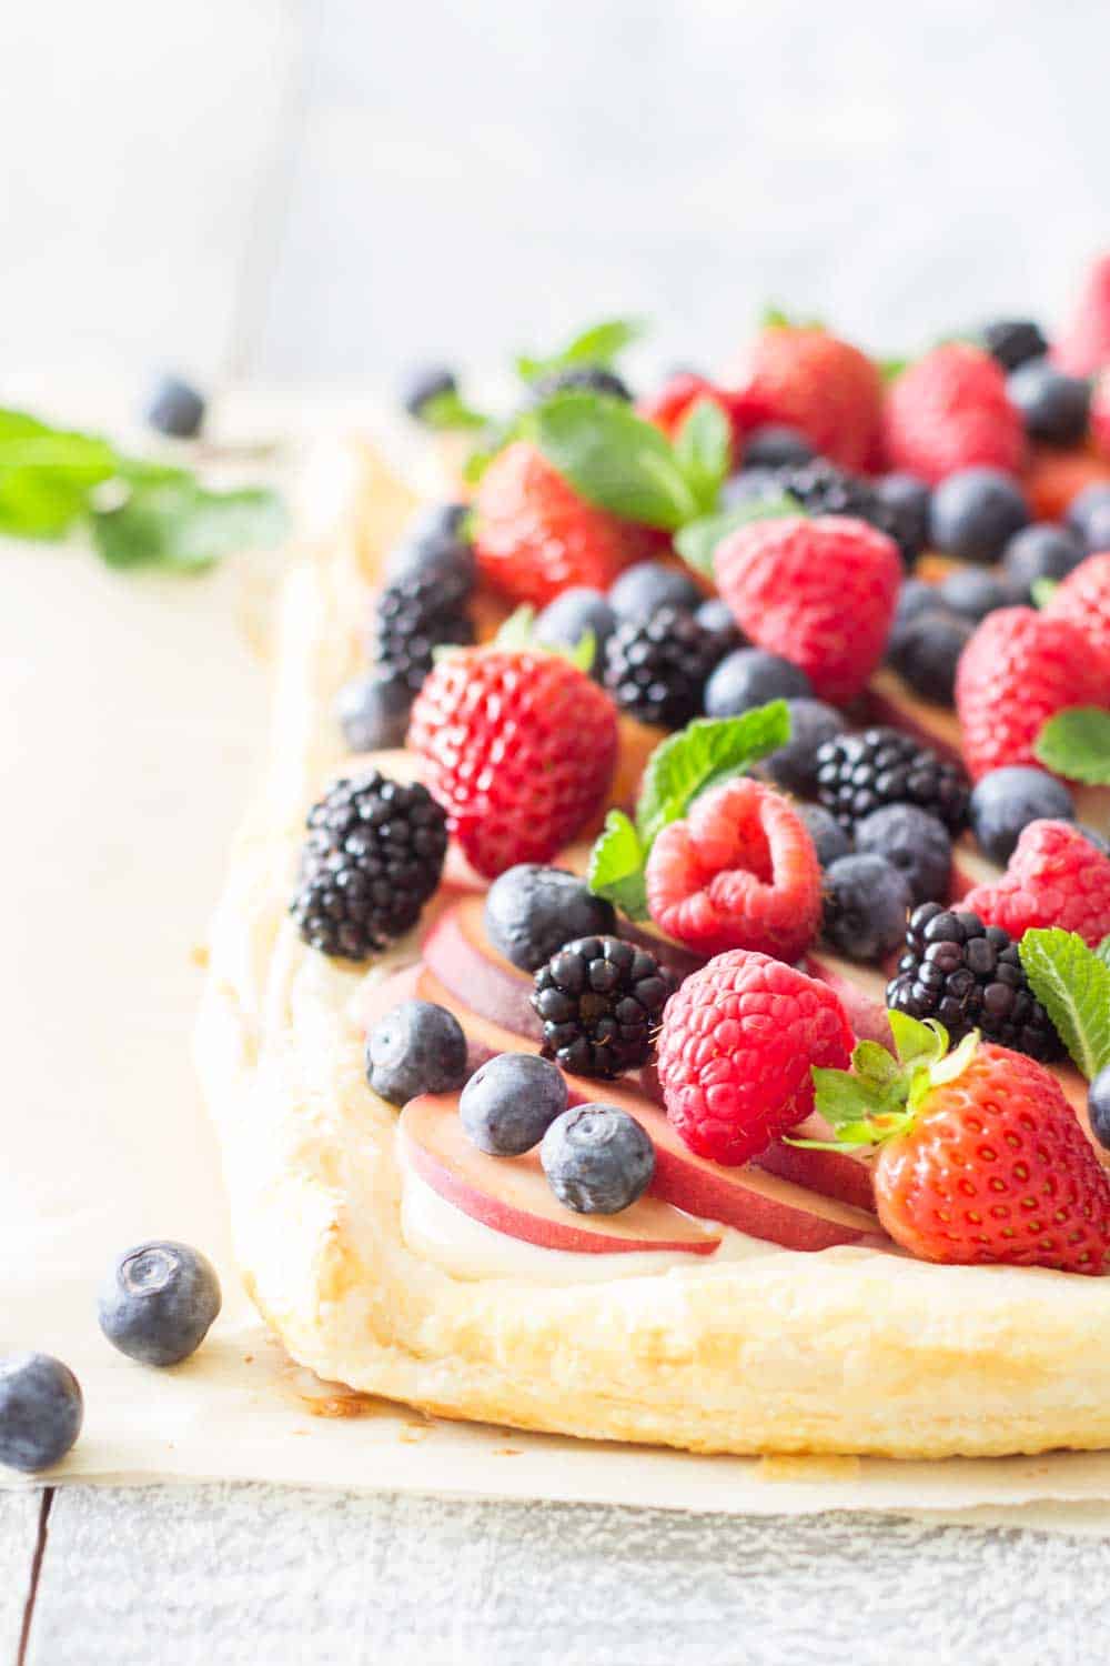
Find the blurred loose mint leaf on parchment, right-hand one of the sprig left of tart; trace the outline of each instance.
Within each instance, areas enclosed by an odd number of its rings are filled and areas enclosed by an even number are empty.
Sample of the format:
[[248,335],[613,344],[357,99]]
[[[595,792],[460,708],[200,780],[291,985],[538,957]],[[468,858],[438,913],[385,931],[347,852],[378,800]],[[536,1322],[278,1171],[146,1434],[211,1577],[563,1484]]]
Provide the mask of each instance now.
[[92,531],[108,566],[188,571],[280,543],[286,515],[266,488],[208,491],[185,476],[135,486],[118,508],[93,511]]

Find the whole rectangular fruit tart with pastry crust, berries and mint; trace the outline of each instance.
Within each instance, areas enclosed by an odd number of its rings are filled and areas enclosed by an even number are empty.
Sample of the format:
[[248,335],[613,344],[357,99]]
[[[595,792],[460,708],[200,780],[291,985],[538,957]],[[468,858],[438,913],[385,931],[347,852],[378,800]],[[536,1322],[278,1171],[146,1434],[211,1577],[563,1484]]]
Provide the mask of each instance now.
[[443,501],[364,451],[285,585],[198,1046],[251,1294],[448,1418],[1110,1444],[1090,402],[1028,322],[637,402],[629,335],[418,378]]

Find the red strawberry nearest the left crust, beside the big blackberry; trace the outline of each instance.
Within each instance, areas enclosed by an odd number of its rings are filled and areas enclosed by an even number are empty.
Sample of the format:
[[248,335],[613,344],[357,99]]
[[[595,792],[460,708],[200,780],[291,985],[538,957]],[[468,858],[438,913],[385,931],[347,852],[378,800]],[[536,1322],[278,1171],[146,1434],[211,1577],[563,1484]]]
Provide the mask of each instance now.
[[536,648],[471,648],[424,680],[408,733],[448,831],[479,873],[551,861],[601,810],[617,756],[612,701]]

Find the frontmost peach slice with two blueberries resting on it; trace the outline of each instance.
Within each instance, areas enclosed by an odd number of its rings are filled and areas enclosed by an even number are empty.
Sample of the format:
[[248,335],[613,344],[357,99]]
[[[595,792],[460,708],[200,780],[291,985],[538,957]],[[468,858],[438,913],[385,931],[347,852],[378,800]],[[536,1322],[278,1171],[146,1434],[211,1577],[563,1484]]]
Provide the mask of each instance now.
[[689,1221],[669,1203],[644,1196],[619,1215],[576,1215],[551,1191],[539,1155],[488,1156],[463,1131],[458,1095],[409,1100],[401,1111],[404,1155],[433,1191],[494,1231],[577,1254],[684,1251],[706,1256],[719,1235]]

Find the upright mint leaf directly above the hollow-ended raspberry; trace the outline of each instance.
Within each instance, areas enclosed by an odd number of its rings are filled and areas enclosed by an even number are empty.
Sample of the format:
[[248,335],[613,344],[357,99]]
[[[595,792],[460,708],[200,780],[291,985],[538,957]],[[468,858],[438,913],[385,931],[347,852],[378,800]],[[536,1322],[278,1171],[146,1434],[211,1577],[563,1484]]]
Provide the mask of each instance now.
[[739,718],[696,718],[677,735],[669,735],[647,760],[636,805],[636,826],[644,845],[651,848],[662,828],[679,821],[699,793],[785,746],[789,738],[785,700],[772,700]]

